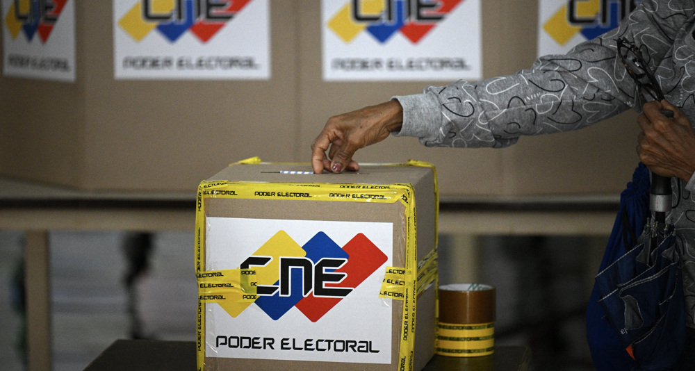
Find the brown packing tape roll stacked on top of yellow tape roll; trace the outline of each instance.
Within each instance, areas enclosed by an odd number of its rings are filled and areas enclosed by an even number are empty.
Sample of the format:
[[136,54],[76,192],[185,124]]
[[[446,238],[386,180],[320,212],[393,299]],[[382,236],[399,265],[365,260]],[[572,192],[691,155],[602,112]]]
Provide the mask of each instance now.
[[439,286],[439,322],[480,324],[495,322],[495,288],[477,283]]

